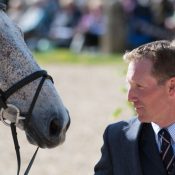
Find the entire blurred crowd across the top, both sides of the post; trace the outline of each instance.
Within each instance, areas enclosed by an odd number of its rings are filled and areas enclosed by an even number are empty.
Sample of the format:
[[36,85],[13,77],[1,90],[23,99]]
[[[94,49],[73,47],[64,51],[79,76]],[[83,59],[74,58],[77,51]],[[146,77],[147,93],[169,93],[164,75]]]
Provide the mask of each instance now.
[[[111,38],[119,45],[124,43],[122,48],[116,48],[120,51],[157,39],[173,39],[175,32],[174,0],[6,2],[8,14],[24,32],[32,50],[65,47],[80,52],[87,48],[99,49],[110,43]],[[124,36],[122,41],[120,36]],[[106,38],[108,42],[104,42]]]

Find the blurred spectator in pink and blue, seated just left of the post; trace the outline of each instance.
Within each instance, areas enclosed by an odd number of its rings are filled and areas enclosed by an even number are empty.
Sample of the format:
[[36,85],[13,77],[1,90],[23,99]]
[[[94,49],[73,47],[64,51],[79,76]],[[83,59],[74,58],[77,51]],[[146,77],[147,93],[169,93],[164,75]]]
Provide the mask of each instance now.
[[[103,6],[99,1],[90,1],[85,7],[82,18],[78,24],[72,48],[75,48],[75,44],[79,44],[79,51],[84,47],[99,48],[100,38],[104,33],[105,18]],[[81,41],[78,40],[80,38]]]

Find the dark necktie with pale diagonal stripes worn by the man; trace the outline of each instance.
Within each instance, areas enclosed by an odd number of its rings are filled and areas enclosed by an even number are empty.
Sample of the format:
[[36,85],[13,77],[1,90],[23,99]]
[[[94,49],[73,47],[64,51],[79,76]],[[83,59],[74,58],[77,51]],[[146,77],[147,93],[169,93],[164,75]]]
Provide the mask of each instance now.
[[161,129],[159,131],[159,136],[162,140],[160,155],[167,173],[171,174],[175,165],[175,155],[171,145],[171,136],[166,129]]

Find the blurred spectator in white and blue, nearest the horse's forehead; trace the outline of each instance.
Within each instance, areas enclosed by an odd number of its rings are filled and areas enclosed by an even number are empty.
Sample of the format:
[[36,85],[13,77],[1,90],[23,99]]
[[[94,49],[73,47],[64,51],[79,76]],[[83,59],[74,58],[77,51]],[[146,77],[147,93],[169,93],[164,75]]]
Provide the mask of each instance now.
[[59,9],[58,0],[16,1],[9,13],[24,33],[28,46],[38,49],[38,42],[48,38],[51,23]]

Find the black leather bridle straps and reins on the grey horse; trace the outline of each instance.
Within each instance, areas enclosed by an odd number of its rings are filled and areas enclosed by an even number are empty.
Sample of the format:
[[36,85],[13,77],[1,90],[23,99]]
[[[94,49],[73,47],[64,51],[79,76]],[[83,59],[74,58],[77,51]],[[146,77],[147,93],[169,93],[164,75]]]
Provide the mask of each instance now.
[[[12,105],[12,104],[7,104],[7,99],[14,94],[17,90],[21,89],[22,87],[24,87],[25,85],[31,83],[32,81],[41,78],[40,83],[36,89],[36,92],[34,94],[33,100],[30,104],[29,110],[26,113],[21,113],[20,115],[20,111],[19,109]],[[27,127],[28,123],[30,122],[30,119],[32,117],[32,111],[33,108],[35,106],[36,100],[39,96],[39,93],[41,91],[41,88],[44,84],[44,81],[46,79],[50,79],[53,82],[53,79],[50,75],[47,74],[47,72],[45,70],[39,70],[36,71],[30,75],[28,75],[27,77],[23,78],[22,80],[20,80],[19,82],[15,83],[12,87],[10,87],[9,89],[7,89],[6,91],[2,91],[0,89],[0,109],[1,109],[1,120],[3,121],[3,123],[5,123],[6,125],[9,125],[11,127],[11,132],[12,132],[12,136],[13,136],[13,141],[14,141],[14,146],[15,146],[15,151],[16,151],[16,156],[17,156],[17,163],[18,163],[18,169],[17,169],[17,175],[19,175],[20,173],[20,165],[21,165],[21,158],[20,158],[20,147],[19,147],[19,143],[18,143],[18,139],[17,139],[17,132],[16,132],[16,126],[18,125],[18,122],[20,122],[20,120],[24,121],[24,128]],[[7,110],[8,108],[13,108],[16,110],[16,118],[13,121],[10,121],[9,123],[5,122],[5,119],[3,117],[4,111]],[[32,164],[33,161],[35,159],[35,156],[38,152],[39,147],[36,149],[24,175],[27,175]]]

